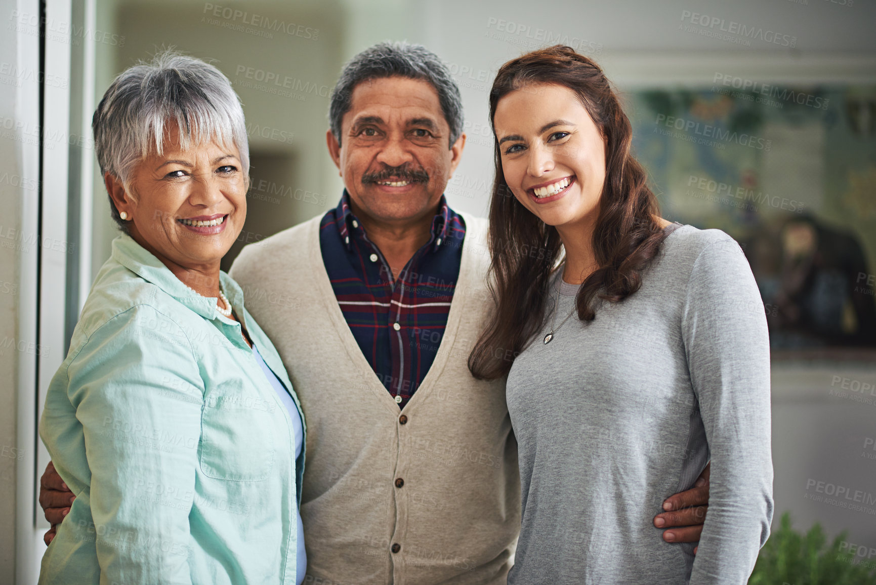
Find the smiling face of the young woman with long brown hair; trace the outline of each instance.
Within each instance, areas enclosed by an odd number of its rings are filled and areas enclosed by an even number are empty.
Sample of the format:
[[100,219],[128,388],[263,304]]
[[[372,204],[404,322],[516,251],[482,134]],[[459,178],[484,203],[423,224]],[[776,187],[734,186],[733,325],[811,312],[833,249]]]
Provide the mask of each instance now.
[[493,119],[505,182],[556,227],[594,223],[605,181],[605,139],[575,92],[540,84],[502,97]]

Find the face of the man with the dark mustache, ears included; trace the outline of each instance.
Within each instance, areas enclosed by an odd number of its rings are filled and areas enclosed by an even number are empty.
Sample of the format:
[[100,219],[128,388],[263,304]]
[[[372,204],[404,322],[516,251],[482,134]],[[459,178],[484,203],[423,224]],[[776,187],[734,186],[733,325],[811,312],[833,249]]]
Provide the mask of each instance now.
[[364,220],[406,225],[434,214],[459,164],[465,136],[450,128],[429,82],[385,77],[359,83],[329,153]]

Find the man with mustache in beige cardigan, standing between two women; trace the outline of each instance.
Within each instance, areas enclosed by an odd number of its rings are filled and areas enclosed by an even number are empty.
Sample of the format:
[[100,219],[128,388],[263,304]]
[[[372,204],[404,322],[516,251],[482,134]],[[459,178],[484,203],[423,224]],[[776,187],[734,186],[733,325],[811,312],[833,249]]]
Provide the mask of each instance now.
[[[343,68],[329,118],[340,203],[231,270],[307,417],[305,582],[505,583],[517,445],[505,382],[467,367],[492,306],[486,222],[443,196],[465,144],[459,89],[424,47],[382,43]],[[689,526],[668,540],[698,539],[707,477],[655,520]]]

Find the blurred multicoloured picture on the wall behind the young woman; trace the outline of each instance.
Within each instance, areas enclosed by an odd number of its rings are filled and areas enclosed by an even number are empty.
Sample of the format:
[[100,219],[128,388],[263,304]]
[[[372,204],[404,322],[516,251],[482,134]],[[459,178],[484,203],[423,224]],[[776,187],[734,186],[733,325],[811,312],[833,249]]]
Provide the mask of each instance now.
[[738,240],[775,348],[876,346],[876,87],[716,77],[625,96],[663,216]]

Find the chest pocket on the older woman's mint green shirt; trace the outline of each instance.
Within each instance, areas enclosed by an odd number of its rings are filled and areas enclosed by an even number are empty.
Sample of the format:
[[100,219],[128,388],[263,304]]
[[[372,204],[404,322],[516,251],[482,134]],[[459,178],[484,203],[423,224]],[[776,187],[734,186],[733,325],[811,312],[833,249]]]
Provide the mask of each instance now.
[[208,391],[201,410],[201,471],[231,482],[260,482],[274,462],[272,396],[260,396],[242,380]]

